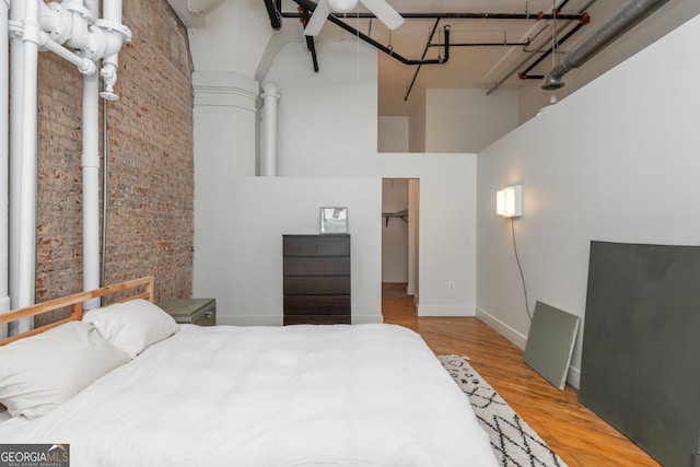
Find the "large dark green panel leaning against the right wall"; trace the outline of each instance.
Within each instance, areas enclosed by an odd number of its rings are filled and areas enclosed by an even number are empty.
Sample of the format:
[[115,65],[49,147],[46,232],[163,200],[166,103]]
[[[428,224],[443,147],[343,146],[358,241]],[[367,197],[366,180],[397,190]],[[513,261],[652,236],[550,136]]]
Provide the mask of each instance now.
[[700,434],[700,247],[591,243],[581,402],[666,467]]

